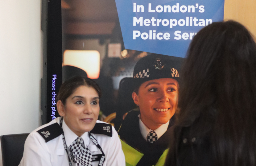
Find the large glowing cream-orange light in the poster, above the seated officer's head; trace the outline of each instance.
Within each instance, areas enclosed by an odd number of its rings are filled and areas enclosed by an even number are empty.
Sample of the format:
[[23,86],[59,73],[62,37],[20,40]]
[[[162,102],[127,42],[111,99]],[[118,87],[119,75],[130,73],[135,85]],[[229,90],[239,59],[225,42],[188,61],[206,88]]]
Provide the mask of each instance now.
[[75,66],[83,69],[91,79],[100,75],[100,53],[95,50],[65,50],[63,65]]

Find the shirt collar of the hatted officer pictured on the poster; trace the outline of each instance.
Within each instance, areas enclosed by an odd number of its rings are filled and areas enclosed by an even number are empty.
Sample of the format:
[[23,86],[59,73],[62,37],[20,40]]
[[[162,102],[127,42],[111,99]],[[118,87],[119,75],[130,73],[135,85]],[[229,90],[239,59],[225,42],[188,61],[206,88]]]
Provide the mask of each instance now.
[[140,132],[142,134],[142,137],[147,140],[147,134],[151,131],[154,131],[157,135],[157,139],[159,139],[168,129],[168,125],[169,125],[169,122],[168,121],[166,124],[162,124],[159,128],[155,129],[155,130],[151,130],[149,129],[140,119],[140,114],[139,114],[139,129],[140,129]]

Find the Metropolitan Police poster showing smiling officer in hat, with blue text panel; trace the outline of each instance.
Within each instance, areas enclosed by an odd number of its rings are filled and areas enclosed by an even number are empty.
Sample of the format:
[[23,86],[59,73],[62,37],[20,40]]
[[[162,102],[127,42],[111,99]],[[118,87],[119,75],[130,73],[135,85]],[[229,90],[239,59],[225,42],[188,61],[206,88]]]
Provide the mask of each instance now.
[[[63,81],[82,76],[97,82],[99,120],[118,131],[128,166],[164,164],[188,45],[198,30],[216,21],[214,14],[202,15],[209,5],[200,2],[62,1]],[[222,5],[224,10],[224,1],[215,3],[211,12]]]

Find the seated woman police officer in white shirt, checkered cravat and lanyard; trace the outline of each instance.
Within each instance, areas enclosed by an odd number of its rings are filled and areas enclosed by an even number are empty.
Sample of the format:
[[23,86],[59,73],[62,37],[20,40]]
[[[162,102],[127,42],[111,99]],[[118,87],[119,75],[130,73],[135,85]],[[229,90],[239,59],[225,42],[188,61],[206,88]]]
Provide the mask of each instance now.
[[65,81],[57,97],[61,117],[29,134],[20,166],[125,165],[117,132],[97,121],[100,96],[89,78]]

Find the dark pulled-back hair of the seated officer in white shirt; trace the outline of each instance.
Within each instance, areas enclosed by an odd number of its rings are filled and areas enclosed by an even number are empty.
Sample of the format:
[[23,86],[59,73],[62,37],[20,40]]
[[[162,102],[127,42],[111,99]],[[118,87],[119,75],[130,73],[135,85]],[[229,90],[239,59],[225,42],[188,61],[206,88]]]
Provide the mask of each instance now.
[[76,88],[83,85],[92,87],[98,93],[99,98],[101,97],[101,89],[95,81],[87,77],[76,76],[76,77],[69,78],[60,86],[60,90],[57,96],[57,101],[60,100],[65,105],[67,98],[72,93],[74,93]]

